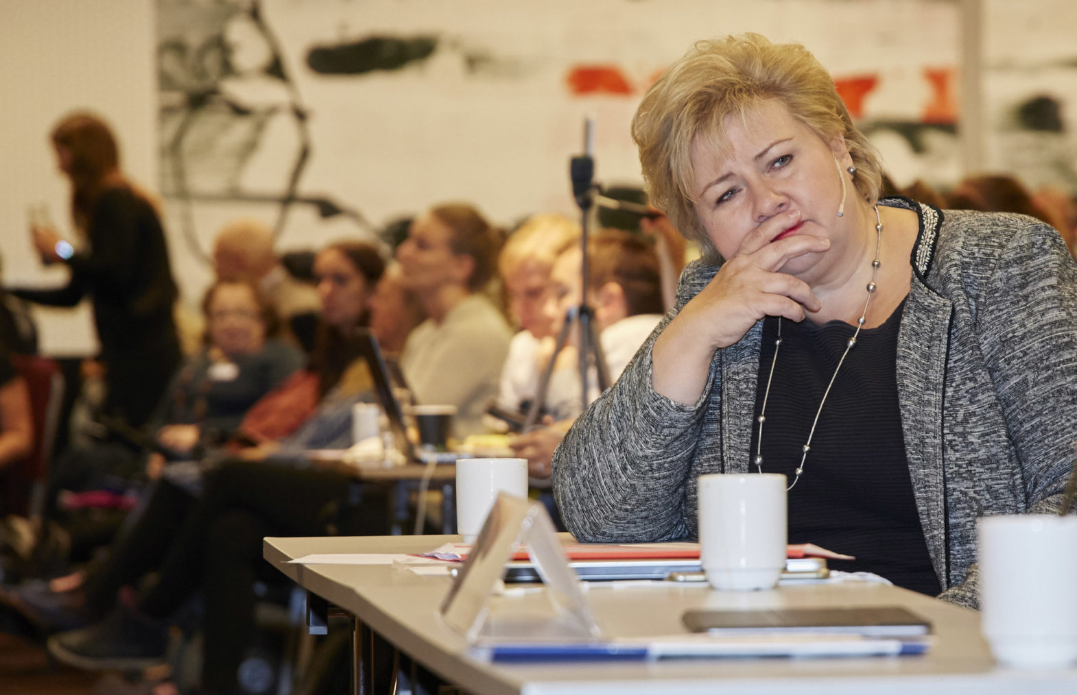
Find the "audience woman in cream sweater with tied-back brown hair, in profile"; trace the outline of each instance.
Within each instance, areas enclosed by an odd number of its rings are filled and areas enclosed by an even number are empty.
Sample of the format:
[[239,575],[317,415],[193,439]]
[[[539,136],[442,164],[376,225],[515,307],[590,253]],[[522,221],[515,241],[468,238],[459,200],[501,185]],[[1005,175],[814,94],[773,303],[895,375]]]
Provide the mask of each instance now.
[[457,407],[457,438],[484,431],[512,331],[484,294],[493,279],[499,232],[466,204],[432,208],[396,249],[404,286],[426,320],[404,344],[401,369],[417,403]]

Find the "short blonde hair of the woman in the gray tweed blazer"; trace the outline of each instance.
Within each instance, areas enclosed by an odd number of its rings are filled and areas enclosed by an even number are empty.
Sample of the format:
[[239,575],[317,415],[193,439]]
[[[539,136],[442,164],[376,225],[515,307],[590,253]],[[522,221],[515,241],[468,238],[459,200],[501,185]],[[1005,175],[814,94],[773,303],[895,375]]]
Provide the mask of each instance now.
[[853,125],[815,56],[800,44],[773,44],[757,33],[700,41],[647,91],[632,119],[632,139],[652,204],[710,252],[694,208],[693,145],[703,138],[721,154],[727,147],[726,117],[745,117],[772,99],[824,142],[843,137],[856,167],[856,189],[870,203],[879,199],[879,155]]

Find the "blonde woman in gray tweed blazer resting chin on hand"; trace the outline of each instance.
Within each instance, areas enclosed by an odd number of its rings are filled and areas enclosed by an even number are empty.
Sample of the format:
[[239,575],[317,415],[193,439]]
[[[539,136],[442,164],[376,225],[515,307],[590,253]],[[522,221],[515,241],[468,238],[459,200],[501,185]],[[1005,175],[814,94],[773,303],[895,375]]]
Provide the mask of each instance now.
[[834,80],[757,34],[696,44],[632,133],[652,201],[710,253],[558,449],[569,530],[694,537],[699,476],[782,473],[789,542],[977,606],[977,519],[1057,513],[1073,466],[1077,266],[1059,233],[878,200]]

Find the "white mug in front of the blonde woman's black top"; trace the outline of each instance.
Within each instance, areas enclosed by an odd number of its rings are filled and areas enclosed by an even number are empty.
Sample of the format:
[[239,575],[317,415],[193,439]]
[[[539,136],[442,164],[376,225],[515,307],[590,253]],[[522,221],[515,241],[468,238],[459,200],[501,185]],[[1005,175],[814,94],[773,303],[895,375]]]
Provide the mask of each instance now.
[[785,476],[699,477],[699,545],[715,588],[773,588],[785,569]]

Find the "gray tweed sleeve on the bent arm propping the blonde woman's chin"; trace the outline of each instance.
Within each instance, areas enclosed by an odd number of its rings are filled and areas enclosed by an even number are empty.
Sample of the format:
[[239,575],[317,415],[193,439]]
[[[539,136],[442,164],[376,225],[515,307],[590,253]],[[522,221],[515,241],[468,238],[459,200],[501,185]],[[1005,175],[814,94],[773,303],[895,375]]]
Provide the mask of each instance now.
[[699,400],[688,406],[653,388],[652,348],[716,270],[699,261],[685,270],[676,307],[558,446],[554,496],[565,526],[578,540],[657,541],[689,535],[683,512],[685,482],[707,403],[717,397],[717,360]]

